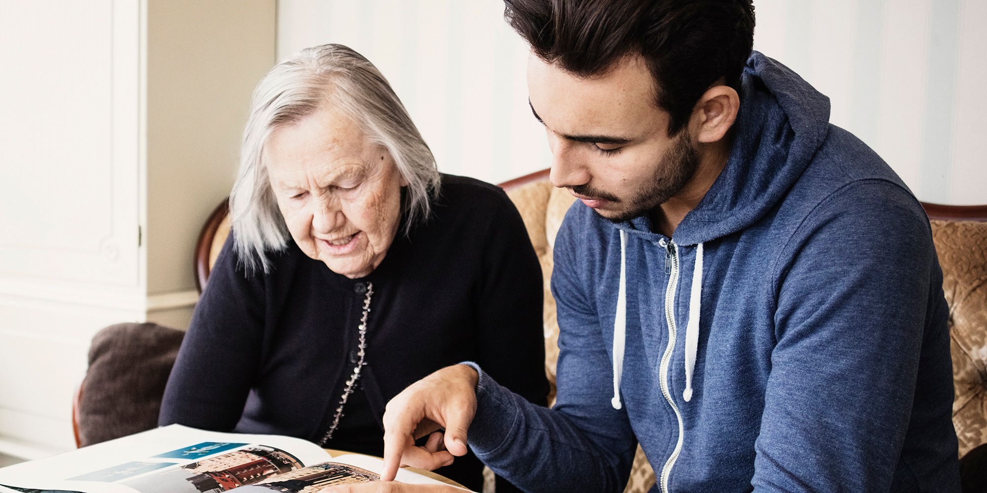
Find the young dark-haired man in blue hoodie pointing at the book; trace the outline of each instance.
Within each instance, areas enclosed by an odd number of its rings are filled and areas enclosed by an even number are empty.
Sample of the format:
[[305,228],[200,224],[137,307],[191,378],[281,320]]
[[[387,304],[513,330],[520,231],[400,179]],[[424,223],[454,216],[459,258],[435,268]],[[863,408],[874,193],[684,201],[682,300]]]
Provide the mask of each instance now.
[[[640,442],[661,492],[958,492],[928,220],[751,51],[750,2],[505,2],[551,179],[579,199],[555,246],[558,403],[441,370],[388,405],[385,479],[468,438],[531,491],[621,491]],[[432,421],[448,451],[414,447]]]

